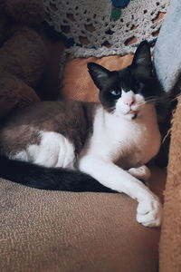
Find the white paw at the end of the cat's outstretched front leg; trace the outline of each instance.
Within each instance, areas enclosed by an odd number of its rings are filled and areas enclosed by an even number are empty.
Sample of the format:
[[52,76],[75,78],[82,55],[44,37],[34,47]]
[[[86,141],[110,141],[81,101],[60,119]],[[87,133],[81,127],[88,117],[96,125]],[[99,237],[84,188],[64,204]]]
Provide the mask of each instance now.
[[162,218],[162,204],[159,199],[140,201],[137,209],[137,221],[145,227],[159,227]]

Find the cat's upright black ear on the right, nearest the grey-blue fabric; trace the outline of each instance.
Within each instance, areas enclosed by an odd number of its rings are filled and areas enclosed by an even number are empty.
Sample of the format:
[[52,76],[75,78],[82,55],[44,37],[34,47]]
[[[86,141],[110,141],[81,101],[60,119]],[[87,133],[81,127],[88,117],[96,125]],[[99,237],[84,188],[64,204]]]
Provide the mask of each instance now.
[[150,72],[152,70],[150,46],[147,41],[143,41],[138,45],[138,49],[133,58],[133,65],[144,66]]

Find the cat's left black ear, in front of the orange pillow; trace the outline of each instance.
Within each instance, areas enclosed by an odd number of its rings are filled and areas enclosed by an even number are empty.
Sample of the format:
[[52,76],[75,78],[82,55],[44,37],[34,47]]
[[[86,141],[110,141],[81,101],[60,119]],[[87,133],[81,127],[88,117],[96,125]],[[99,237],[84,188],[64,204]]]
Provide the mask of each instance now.
[[101,89],[111,72],[98,63],[88,63],[87,66],[91,79]]

